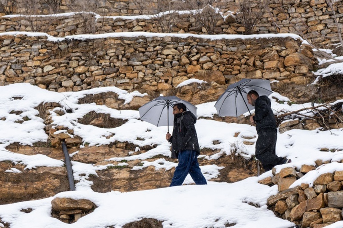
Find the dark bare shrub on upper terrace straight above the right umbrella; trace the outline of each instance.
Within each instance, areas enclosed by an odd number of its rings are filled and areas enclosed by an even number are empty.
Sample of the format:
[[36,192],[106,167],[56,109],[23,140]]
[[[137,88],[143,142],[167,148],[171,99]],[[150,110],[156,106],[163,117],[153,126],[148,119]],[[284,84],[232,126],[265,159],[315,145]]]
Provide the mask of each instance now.
[[250,0],[241,0],[238,3],[238,7],[240,12],[237,13],[237,22],[245,28],[243,34],[253,34],[257,22],[262,19],[267,8],[267,2],[262,0],[260,4],[257,4]]

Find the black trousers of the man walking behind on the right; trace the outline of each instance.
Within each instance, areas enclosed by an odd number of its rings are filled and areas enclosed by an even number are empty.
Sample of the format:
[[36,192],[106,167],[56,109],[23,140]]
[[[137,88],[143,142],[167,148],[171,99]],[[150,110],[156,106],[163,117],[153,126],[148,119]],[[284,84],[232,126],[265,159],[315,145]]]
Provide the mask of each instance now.
[[275,131],[262,131],[256,141],[256,158],[261,161],[265,171],[271,170],[274,166],[283,164],[285,158],[275,154],[277,134]]

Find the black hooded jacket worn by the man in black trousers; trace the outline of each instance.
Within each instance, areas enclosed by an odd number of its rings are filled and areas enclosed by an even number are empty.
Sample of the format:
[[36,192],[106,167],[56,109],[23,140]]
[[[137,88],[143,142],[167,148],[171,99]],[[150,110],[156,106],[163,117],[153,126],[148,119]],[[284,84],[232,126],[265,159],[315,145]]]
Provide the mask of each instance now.
[[275,131],[277,129],[275,117],[271,109],[271,102],[267,96],[259,96],[255,102],[255,116],[257,134],[262,131]]

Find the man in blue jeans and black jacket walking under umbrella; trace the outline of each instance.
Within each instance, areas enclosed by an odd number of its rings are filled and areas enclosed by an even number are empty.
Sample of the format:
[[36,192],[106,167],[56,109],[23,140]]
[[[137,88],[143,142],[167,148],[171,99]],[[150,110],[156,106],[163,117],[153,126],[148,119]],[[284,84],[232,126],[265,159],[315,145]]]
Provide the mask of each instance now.
[[173,114],[173,136],[168,132],[166,140],[171,143],[171,158],[178,158],[179,163],[175,168],[170,187],[182,185],[188,173],[196,184],[207,184],[197,159],[200,154],[197,132],[194,127],[197,118],[192,112],[187,111],[182,103],[174,105]]

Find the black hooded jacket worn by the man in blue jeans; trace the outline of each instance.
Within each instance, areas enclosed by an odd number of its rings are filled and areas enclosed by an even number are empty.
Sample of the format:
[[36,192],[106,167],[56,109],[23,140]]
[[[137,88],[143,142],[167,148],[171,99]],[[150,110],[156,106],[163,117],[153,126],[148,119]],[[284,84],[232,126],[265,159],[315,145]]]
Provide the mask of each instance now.
[[173,135],[170,137],[171,158],[177,158],[184,150],[196,151],[200,154],[199,142],[194,123],[197,118],[190,111],[178,113],[174,116]]

